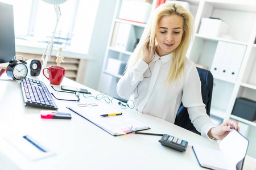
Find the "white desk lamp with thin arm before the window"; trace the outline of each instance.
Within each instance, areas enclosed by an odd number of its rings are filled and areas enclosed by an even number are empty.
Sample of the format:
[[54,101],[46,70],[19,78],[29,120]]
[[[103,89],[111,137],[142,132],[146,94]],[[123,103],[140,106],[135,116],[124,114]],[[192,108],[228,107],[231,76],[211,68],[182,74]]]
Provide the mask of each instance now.
[[56,19],[56,24],[55,24],[55,29],[53,31],[53,34],[52,34],[52,38],[51,38],[51,41],[48,42],[47,46],[46,46],[46,49],[44,50],[44,53],[43,53],[43,56],[41,58],[42,62],[43,62],[43,68],[46,67],[47,65],[47,62],[49,61],[49,59],[51,58],[51,54],[52,54],[52,47],[53,47],[53,39],[54,39],[54,36],[55,36],[55,32],[56,32],[56,28],[57,28],[57,25],[59,23],[59,19],[60,19],[60,16],[61,16],[61,12],[60,12],[60,7],[59,7],[59,4],[61,3],[64,3],[66,2],[67,0],[42,0],[46,3],[50,3],[50,4],[53,4],[54,7],[55,7],[55,12],[56,12],[56,16],[57,16],[57,19]]

